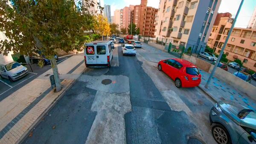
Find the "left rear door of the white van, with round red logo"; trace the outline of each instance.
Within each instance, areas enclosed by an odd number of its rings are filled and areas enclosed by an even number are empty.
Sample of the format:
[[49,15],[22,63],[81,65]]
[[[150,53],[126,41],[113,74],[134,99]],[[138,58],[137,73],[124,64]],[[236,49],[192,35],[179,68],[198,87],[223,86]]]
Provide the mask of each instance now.
[[85,56],[87,64],[97,64],[95,47],[93,45],[86,46],[85,48]]

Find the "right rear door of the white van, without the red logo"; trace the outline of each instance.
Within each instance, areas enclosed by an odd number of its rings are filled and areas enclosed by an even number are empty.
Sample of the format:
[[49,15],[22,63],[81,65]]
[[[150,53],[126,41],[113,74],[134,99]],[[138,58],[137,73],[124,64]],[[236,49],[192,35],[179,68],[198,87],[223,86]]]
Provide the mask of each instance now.
[[105,45],[96,46],[97,49],[97,63],[98,64],[107,64],[108,63],[108,52]]

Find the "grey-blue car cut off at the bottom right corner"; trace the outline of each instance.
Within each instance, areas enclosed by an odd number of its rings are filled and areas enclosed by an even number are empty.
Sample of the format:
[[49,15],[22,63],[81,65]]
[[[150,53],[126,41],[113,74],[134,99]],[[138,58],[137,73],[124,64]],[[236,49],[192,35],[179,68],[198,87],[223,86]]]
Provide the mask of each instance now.
[[218,144],[256,144],[256,112],[232,101],[210,111],[212,136]]

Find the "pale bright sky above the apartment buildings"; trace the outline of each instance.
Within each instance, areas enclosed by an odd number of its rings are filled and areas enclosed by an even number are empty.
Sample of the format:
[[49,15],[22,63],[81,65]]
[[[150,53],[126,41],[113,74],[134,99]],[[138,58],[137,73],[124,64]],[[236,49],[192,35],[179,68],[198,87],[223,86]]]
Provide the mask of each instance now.
[[[158,8],[159,1],[160,0],[148,0],[148,6]],[[125,6],[140,4],[140,0],[100,0],[100,2],[102,4],[111,5],[112,16],[114,15],[115,9],[122,9]],[[218,12],[230,12],[233,17],[235,17],[240,2],[241,0],[222,0]],[[241,12],[236,21],[236,27],[246,28],[255,6],[256,0],[244,0]]]

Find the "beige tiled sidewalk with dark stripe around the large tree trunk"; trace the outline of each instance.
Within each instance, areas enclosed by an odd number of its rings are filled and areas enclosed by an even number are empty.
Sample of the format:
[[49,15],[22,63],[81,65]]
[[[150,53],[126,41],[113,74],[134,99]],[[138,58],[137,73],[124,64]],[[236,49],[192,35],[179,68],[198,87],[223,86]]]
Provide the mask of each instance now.
[[53,92],[49,81],[52,69],[0,101],[0,144],[17,144],[41,121],[65,91],[84,71],[83,54],[58,64],[62,90]]

